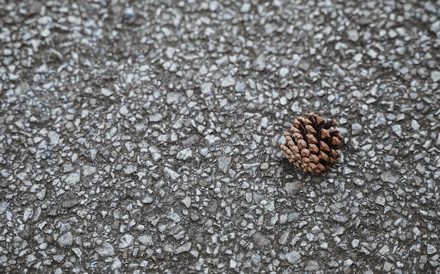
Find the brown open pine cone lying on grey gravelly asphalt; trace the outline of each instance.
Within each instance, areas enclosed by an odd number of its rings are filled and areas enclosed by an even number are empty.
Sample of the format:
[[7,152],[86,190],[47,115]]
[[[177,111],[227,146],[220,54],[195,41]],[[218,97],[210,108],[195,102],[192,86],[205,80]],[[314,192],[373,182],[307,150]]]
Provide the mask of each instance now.
[[322,117],[306,113],[306,119],[298,117],[285,132],[285,141],[280,145],[285,157],[304,172],[320,174],[330,169],[339,153],[342,138],[335,119],[325,122]]

